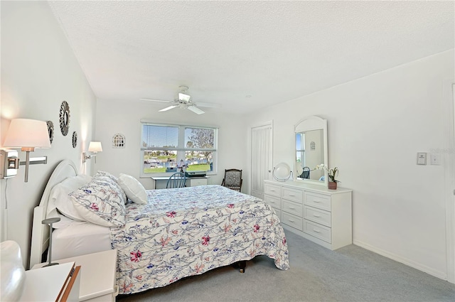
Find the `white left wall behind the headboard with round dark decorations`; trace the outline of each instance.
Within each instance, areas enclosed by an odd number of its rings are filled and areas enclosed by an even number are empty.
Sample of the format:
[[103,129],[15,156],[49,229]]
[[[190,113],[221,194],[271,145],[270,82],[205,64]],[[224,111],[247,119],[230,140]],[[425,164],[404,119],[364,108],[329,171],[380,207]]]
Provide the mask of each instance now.
[[[15,178],[0,180],[1,241],[18,242],[26,265],[33,207],[38,205],[50,173],[61,160],[73,160],[82,171],[81,154],[92,139],[96,99],[47,1],[1,1],[0,5],[0,143],[14,118],[50,120],[55,127],[51,149],[31,153],[32,157],[48,156],[47,165],[30,166],[28,183],[23,181],[23,166]],[[63,101],[70,105],[67,136],[61,134],[59,126]],[[76,148],[72,146],[73,131],[78,136]],[[23,161],[25,153],[19,150],[19,156]]]

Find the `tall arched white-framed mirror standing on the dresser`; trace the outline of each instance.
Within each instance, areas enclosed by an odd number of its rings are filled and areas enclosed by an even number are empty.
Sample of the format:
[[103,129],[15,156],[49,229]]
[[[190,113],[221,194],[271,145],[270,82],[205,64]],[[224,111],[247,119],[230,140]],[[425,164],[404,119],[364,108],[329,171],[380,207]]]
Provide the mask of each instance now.
[[296,124],[294,130],[294,180],[327,186],[326,171],[316,169],[321,163],[328,165],[327,120],[316,116],[306,117]]

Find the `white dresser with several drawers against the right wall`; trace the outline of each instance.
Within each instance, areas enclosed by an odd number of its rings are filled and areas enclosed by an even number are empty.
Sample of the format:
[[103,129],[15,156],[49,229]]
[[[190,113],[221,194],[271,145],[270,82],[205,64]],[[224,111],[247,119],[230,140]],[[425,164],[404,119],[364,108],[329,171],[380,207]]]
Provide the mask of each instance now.
[[352,244],[352,190],[264,180],[264,200],[284,229],[328,249]]

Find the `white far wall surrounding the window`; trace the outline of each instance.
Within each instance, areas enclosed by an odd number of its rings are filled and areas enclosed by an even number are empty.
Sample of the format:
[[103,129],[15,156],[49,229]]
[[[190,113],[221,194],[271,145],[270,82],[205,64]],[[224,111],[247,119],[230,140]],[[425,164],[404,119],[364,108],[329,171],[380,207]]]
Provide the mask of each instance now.
[[[241,116],[215,113],[210,108],[203,108],[205,114],[195,114],[186,109],[172,109],[158,112],[166,107],[161,103],[112,102],[98,99],[96,115],[96,139],[102,142],[103,151],[97,156],[95,170],[103,170],[119,175],[127,173],[138,178],[146,189],[154,188],[151,178],[139,178],[143,158],[141,157],[141,119],[163,124],[188,124],[192,126],[219,126],[218,129],[218,173],[210,176],[208,184],[220,185],[224,171],[228,168],[246,170],[245,150],[247,137],[245,121]],[[124,149],[112,148],[112,136],[121,133],[125,136]],[[243,179],[249,177],[248,171]],[[242,188],[242,191],[243,190]],[[246,192],[246,191],[245,191]]]

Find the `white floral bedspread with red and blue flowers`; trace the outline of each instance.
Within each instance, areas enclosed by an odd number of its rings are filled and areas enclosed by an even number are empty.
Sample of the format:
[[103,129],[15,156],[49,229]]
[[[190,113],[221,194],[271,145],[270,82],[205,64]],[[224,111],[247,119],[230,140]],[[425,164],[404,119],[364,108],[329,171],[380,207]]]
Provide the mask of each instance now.
[[120,294],[171,284],[257,255],[289,269],[286,237],[272,207],[220,185],[147,191],[111,227]]

